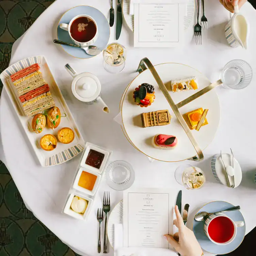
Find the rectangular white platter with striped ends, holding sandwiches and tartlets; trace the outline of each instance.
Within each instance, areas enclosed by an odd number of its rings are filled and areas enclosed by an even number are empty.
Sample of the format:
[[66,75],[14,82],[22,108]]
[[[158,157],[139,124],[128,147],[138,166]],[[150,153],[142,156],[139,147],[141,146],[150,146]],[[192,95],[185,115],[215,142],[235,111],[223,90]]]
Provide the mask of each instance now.
[[[61,118],[61,123],[58,126],[58,128],[51,130],[48,128],[47,124],[45,129],[39,133],[36,134],[33,132],[31,128],[31,121],[33,119],[32,117],[28,117],[25,115],[21,102],[18,98],[17,90],[15,89],[12,80],[10,79],[10,76],[17,71],[29,67],[32,64],[38,63],[41,67],[40,71],[43,74],[43,77],[45,81],[48,83],[50,87],[50,92],[52,94],[52,97],[54,99],[55,105],[60,109],[61,113],[64,112],[67,114],[67,117]],[[82,138],[82,135],[77,127],[77,124],[67,106],[67,103],[60,91],[60,88],[56,81],[54,80],[51,70],[46,62],[46,59],[44,56],[35,56],[30,57],[21,61],[16,62],[15,64],[11,65],[10,67],[6,68],[1,74],[0,79],[7,91],[7,94],[12,102],[12,105],[15,109],[15,112],[17,113],[17,118],[20,120],[20,123],[25,130],[25,133],[28,137],[28,140],[30,141],[31,147],[33,148],[38,161],[42,166],[48,167],[53,166],[57,164],[64,163],[75,156],[77,156],[79,153],[81,153],[84,149],[84,140]],[[71,93],[71,92],[70,92]],[[40,139],[43,137],[43,135],[50,133],[53,134],[56,138],[59,129],[62,127],[69,127],[73,129],[75,132],[75,139],[73,142],[69,144],[62,144],[59,141],[57,142],[57,147],[52,151],[45,151],[40,147]],[[57,139],[58,140],[58,139]],[[31,155],[31,157],[33,157]]]

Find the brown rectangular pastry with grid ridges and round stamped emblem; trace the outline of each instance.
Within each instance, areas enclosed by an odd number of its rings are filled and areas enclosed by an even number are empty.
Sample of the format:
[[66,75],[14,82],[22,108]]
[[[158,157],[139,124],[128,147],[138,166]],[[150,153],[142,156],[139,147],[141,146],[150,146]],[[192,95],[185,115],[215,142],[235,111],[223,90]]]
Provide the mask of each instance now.
[[148,113],[142,113],[142,126],[150,127],[150,126],[161,126],[161,125],[169,125],[171,122],[172,116],[170,115],[167,109],[158,110]]

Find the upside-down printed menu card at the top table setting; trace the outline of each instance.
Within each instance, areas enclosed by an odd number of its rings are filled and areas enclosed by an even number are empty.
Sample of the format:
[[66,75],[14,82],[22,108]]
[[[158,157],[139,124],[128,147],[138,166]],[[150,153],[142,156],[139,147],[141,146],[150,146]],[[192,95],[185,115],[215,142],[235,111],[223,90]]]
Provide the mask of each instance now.
[[134,47],[176,47],[182,44],[186,14],[186,4],[182,2],[134,4]]

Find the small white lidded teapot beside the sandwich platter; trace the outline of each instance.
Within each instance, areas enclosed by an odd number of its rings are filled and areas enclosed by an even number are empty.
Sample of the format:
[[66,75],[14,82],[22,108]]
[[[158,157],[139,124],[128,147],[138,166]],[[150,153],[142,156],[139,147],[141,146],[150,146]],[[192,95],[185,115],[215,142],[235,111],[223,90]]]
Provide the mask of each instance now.
[[99,79],[95,75],[87,72],[77,74],[69,64],[66,64],[65,68],[74,78],[71,84],[73,95],[87,104],[96,103],[100,109],[109,113],[108,106],[100,97],[101,86]]

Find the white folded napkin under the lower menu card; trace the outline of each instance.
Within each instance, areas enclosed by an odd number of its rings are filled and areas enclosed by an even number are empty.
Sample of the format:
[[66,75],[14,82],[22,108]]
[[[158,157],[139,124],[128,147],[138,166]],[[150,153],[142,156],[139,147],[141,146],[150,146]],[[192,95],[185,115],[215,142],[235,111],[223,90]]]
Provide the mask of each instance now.
[[162,248],[123,247],[123,224],[114,224],[114,256],[174,256],[176,252]]

